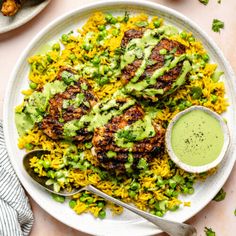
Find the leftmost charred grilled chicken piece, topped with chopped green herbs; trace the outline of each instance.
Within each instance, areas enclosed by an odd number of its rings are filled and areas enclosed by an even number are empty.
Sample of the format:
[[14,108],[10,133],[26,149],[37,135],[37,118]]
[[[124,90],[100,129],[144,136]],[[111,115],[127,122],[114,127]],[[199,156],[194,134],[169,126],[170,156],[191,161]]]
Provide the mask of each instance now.
[[[58,79],[60,78],[59,74]],[[63,125],[88,114],[96,103],[97,98],[93,94],[90,84],[86,80],[80,79],[74,85],[70,85],[65,92],[56,94],[50,99],[49,114],[39,124],[39,127],[50,138],[61,139],[63,138]],[[73,137],[73,140],[88,140],[91,137],[92,133],[83,128],[77,132],[77,136]]]

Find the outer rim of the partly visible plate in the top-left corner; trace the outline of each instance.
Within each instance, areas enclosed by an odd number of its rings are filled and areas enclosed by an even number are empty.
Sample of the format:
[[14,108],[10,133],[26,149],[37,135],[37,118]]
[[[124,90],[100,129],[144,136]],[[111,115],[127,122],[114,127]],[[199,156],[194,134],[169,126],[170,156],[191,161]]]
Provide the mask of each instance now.
[[[6,25],[3,28],[0,29],[0,34],[7,33],[9,31],[12,31],[14,29],[19,28],[20,26],[26,24],[27,22],[31,21],[34,17],[36,17],[44,8],[48,6],[48,4],[51,2],[51,0],[44,0],[43,2],[39,3],[38,6],[35,8],[33,12],[30,12],[26,17],[24,17],[22,20],[18,20],[13,24]],[[8,17],[8,16],[4,16]],[[10,16],[11,17],[11,16]],[[13,16],[14,17],[14,16]]]

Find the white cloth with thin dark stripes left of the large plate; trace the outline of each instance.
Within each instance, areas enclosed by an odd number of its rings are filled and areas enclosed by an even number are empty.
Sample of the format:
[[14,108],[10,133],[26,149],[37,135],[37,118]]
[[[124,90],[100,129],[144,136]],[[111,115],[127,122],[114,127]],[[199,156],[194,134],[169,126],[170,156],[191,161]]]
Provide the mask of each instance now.
[[33,221],[29,200],[8,157],[0,121],[0,236],[29,235]]

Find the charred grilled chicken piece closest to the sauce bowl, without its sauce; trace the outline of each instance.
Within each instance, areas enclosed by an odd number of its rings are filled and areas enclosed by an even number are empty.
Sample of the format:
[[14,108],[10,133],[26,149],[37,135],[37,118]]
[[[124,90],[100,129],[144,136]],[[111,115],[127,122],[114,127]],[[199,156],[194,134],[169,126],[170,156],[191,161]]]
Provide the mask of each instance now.
[[[116,144],[115,134],[118,130],[130,126],[138,120],[144,118],[144,111],[139,105],[134,105],[127,109],[122,115],[116,116],[103,127],[98,127],[94,131],[92,143],[94,152],[105,169],[118,168],[124,170],[124,164],[131,153],[137,165],[140,158],[149,160],[153,155],[160,153],[164,147],[164,129],[153,122],[156,134],[153,137],[134,141],[132,148],[123,148]],[[110,158],[107,153],[115,152],[115,157]]]

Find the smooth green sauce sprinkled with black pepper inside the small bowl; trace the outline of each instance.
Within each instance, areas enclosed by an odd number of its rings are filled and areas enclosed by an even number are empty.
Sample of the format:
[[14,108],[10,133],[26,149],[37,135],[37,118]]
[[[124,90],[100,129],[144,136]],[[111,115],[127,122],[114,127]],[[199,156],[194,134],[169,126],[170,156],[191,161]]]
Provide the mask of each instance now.
[[224,134],[217,119],[200,110],[183,115],[173,126],[171,145],[175,155],[191,166],[202,166],[219,156]]

